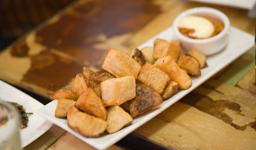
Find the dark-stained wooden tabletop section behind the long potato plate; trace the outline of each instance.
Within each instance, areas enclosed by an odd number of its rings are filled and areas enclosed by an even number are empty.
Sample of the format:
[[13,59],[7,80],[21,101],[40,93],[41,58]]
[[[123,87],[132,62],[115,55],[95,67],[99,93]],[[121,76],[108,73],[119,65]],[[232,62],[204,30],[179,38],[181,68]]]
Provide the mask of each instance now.
[[[49,98],[70,86],[83,66],[100,69],[108,49],[129,52],[171,26],[181,10],[196,6],[179,0],[78,1],[2,51],[0,79]],[[254,32],[245,10],[218,9],[232,26]]]

